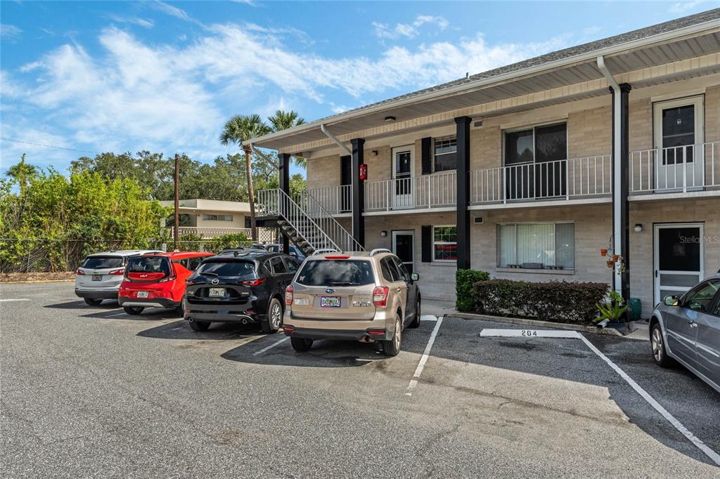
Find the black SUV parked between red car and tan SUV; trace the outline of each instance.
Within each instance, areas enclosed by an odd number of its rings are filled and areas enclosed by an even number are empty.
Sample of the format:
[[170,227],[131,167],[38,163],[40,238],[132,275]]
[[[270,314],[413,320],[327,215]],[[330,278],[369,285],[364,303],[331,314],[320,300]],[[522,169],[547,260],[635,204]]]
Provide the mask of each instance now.
[[222,252],[204,260],[187,278],[185,319],[195,331],[214,322],[260,323],[263,332],[282,326],[285,288],[300,263],[258,250]]

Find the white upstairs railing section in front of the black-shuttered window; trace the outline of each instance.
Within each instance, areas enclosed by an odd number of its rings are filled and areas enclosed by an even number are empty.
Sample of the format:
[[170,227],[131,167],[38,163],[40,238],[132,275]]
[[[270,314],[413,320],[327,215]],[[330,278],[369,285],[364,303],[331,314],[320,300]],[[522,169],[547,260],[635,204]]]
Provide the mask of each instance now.
[[365,183],[365,211],[421,209],[456,205],[454,171]]

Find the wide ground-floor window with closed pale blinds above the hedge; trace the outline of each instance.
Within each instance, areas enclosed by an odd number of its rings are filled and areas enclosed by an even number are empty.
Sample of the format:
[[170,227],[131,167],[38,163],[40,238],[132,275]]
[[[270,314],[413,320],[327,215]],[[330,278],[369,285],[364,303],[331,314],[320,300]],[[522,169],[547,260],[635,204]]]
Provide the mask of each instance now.
[[540,265],[575,268],[575,224],[500,224],[498,266],[539,268]]

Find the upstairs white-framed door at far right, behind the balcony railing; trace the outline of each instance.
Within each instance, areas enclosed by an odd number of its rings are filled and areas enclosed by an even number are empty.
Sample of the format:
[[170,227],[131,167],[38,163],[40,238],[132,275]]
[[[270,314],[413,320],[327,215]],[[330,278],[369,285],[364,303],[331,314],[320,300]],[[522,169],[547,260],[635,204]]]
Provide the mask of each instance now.
[[703,96],[653,106],[655,190],[698,189],[704,183]]

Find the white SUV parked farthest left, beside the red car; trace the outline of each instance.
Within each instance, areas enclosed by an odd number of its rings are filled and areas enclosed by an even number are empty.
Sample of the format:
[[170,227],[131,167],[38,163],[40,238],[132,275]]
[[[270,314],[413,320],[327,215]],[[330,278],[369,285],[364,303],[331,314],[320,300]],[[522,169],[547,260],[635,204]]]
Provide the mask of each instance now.
[[120,250],[89,255],[75,272],[75,294],[91,306],[97,306],[103,299],[117,299],[127,260],[157,252],[161,251]]

